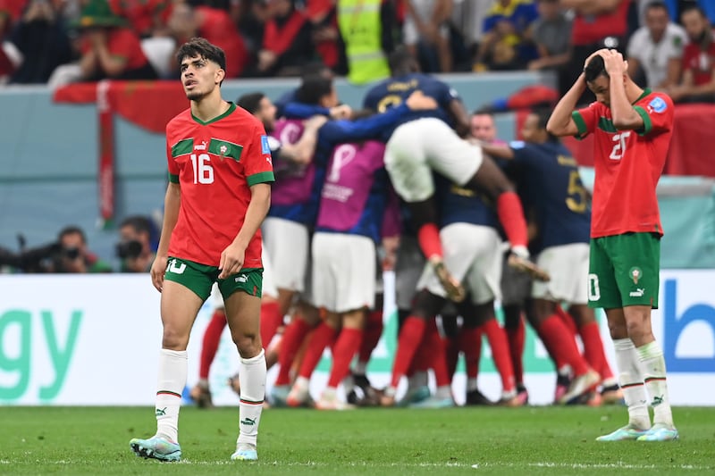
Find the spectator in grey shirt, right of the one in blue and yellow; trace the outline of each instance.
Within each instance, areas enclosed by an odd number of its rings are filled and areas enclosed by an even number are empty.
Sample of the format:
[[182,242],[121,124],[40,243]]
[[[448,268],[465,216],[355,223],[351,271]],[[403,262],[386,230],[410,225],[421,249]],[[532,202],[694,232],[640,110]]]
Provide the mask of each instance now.
[[539,57],[528,63],[529,70],[558,70],[571,59],[571,26],[559,0],[536,0],[539,18],[532,26],[531,38]]

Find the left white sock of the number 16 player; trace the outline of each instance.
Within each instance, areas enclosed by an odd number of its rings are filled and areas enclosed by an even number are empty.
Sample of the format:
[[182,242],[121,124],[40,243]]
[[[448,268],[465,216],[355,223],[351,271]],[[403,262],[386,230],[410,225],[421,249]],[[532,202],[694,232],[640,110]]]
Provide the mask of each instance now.
[[181,392],[186,386],[188,357],[185,350],[162,349],[156,381],[156,436],[179,442]]

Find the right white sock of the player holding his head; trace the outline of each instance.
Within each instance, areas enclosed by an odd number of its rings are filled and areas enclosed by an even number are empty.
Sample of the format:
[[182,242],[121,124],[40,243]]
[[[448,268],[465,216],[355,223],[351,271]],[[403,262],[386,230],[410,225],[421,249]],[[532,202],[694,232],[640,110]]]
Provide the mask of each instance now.
[[655,340],[635,350],[638,352],[645,389],[651,397],[653,423],[663,423],[672,427],[673,413],[670,410],[663,351]]

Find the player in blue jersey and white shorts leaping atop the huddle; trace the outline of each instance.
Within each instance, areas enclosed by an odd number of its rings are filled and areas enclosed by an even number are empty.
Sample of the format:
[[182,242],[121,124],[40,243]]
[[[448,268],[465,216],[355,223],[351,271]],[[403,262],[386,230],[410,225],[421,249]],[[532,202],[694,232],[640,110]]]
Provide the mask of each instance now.
[[[366,109],[384,111],[401,104],[419,89],[440,104],[434,111],[406,116],[395,128],[385,129],[385,166],[398,195],[407,202],[415,222],[417,239],[427,260],[433,265],[450,299],[464,298],[464,288],[450,275],[442,259],[442,244],[433,203],[432,172],[436,171],[460,187],[479,189],[496,204],[501,225],[509,238],[511,262],[542,279],[544,276],[528,261],[526,221],[517,194],[491,158],[459,135],[469,130],[467,113],[458,96],[445,83],[418,73],[415,59],[405,49],[390,56],[391,78],[368,91]],[[455,131],[456,130],[456,131]]]

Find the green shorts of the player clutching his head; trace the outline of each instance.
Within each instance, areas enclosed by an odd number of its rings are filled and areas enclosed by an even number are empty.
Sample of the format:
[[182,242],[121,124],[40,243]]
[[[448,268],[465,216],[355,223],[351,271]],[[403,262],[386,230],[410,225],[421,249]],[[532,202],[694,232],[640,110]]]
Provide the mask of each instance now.
[[624,233],[592,238],[588,305],[614,309],[627,305],[658,308],[660,236]]

